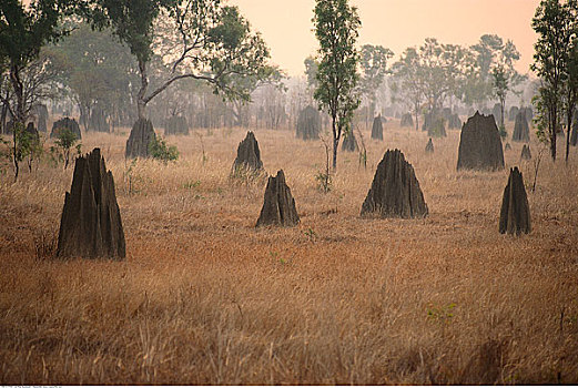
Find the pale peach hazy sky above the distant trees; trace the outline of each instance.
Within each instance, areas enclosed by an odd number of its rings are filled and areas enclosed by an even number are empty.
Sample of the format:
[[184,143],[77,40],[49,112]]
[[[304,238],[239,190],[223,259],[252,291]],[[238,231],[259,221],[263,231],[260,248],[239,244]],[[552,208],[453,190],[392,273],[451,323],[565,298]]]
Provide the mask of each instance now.
[[[301,75],[303,60],[315,52],[315,0],[229,0],[239,6],[271,48],[273,63]],[[381,44],[395,53],[425,38],[469,45],[484,33],[511,39],[521,54],[517,69],[528,72],[536,35],[531,29],[539,0],[351,0],[362,19],[361,44]]]

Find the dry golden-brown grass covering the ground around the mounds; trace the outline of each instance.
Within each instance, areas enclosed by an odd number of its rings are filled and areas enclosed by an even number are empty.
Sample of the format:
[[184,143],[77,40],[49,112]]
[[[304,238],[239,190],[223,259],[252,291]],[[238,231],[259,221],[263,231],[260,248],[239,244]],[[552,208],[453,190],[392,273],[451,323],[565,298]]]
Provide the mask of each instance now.
[[[245,131],[199,133],[205,163],[199,136],[170,136],[179,162],[139,162],[131,193],[128,134],[85,136],[114,174],[125,262],[50,258],[72,169],[0,177],[0,384],[578,382],[576,150],[568,167],[544,157],[534,231],[516,238],[498,233],[508,170],[457,173],[457,131],[432,156],[397,122],[385,142],[364,131],[367,170],[341,153],[327,195],[321,142],[255,131],[302,218],[255,229],[264,183],[227,180]],[[388,147],[427,218],[358,216]],[[533,162],[521,171],[531,184]]]

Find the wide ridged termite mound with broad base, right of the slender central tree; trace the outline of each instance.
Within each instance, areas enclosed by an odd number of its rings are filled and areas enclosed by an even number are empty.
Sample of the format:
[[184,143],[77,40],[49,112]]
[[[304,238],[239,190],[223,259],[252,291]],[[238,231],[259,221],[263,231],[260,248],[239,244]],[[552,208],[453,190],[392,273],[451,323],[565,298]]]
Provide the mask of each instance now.
[[399,150],[388,150],[377,165],[362,216],[422,218],[428,213],[414,167]]

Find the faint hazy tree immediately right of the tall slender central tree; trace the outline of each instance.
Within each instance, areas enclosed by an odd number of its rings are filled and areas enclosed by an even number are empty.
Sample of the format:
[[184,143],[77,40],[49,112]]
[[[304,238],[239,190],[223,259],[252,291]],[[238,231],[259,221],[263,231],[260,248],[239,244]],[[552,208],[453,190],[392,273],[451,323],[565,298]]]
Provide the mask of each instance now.
[[377,89],[384,83],[387,73],[387,61],[394,55],[393,51],[383,45],[364,44],[361,53],[362,76],[361,91],[369,103],[369,114],[375,115],[375,100]]

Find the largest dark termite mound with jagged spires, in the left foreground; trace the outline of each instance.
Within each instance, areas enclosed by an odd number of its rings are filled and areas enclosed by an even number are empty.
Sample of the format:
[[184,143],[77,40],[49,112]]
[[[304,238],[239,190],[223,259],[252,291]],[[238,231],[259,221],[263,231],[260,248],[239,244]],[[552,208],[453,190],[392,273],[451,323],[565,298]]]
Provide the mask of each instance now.
[[125,256],[124,232],[100,149],[77,159],[72,187],[65,194],[58,236],[58,257],[114,258]]

